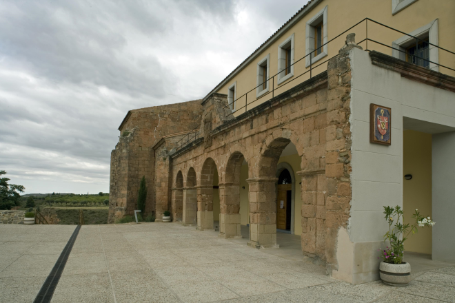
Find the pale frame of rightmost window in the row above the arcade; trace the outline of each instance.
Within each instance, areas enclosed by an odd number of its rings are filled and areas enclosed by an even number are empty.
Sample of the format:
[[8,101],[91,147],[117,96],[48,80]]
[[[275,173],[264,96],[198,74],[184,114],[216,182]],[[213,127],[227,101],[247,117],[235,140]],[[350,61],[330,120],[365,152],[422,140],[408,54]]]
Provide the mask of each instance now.
[[[305,34],[305,55],[306,55],[306,58],[305,58],[305,67],[310,67],[310,65],[312,65],[312,63],[315,63],[321,59],[323,59],[325,56],[327,56],[329,54],[329,50],[328,50],[328,45],[327,45],[327,41],[328,41],[328,28],[327,28],[327,24],[328,24],[328,11],[329,11],[329,6],[325,6],[325,8],[323,8],[322,10],[320,10],[319,12],[317,12],[316,14],[314,14],[314,16],[307,21],[306,23],[306,34]],[[323,43],[323,47],[322,47],[322,51],[321,51],[321,54],[318,54],[317,56],[314,56],[314,50],[316,50],[315,48],[315,44],[316,44],[316,36],[315,36],[315,30],[316,30],[316,26],[317,25],[320,25],[321,22],[323,23],[323,39],[322,39],[322,43]],[[311,61],[310,61],[310,56],[307,56],[308,54],[312,53],[311,55]]]

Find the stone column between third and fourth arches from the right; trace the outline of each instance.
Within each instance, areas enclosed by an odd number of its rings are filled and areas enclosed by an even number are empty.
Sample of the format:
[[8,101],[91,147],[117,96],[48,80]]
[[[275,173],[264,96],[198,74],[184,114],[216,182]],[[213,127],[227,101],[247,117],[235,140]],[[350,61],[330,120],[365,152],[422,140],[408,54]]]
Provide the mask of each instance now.
[[215,230],[213,227],[213,185],[199,185],[197,189],[197,229]]

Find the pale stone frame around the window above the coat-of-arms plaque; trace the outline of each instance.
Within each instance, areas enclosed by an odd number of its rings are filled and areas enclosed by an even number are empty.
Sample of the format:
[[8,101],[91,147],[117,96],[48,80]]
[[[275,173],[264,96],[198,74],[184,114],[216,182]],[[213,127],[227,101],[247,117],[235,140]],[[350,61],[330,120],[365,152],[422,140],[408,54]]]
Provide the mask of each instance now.
[[[410,32],[410,35],[416,36],[418,39],[425,39],[428,37],[429,43],[438,45],[438,19],[435,19],[427,25],[423,25],[421,28]],[[416,39],[412,38],[411,36],[405,35],[392,42],[393,57],[406,61],[406,49],[412,46],[413,43],[414,45],[416,43]],[[439,63],[438,48],[431,44],[429,45],[429,61],[434,62],[429,63],[429,70],[439,72],[439,65],[435,64]]]

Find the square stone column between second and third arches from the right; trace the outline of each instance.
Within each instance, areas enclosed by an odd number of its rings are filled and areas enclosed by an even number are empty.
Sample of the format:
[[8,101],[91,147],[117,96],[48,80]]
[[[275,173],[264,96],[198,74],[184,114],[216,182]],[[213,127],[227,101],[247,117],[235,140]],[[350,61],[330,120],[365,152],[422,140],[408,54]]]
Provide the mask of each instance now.
[[243,238],[240,232],[240,186],[220,183],[220,237]]

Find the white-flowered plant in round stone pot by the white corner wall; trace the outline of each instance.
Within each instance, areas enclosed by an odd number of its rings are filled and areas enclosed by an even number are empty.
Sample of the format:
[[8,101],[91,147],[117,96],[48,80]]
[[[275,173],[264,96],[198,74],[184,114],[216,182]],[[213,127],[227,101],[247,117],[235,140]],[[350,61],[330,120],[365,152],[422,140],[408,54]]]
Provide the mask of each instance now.
[[[385,220],[389,223],[389,231],[384,238],[390,243],[390,247],[381,251],[383,261],[379,264],[379,276],[385,284],[392,286],[406,286],[411,279],[411,264],[403,261],[405,252],[404,242],[410,233],[416,233],[418,227],[433,226],[435,223],[429,217],[424,218],[416,209],[412,218],[416,220],[414,224],[402,224],[403,209],[401,207],[384,207]],[[394,227],[392,224],[395,222]],[[384,241],[385,241],[384,240]]]

